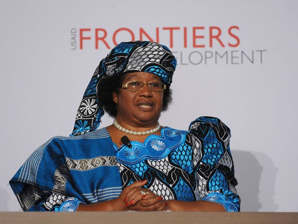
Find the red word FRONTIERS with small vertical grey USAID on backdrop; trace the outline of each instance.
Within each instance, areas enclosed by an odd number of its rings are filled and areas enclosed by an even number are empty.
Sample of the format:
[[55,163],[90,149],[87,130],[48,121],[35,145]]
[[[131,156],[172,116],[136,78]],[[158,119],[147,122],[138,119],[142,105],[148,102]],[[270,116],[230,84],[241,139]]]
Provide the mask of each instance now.
[[111,49],[122,41],[149,40],[162,43],[169,48],[205,48],[205,47],[237,47],[240,44],[239,27],[229,26],[196,26],[196,27],[156,27],[145,30],[140,27],[137,31],[129,28],[118,28],[108,31],[104,28],[72,28],[72,50],[85,48]]

